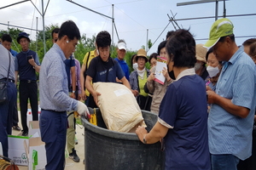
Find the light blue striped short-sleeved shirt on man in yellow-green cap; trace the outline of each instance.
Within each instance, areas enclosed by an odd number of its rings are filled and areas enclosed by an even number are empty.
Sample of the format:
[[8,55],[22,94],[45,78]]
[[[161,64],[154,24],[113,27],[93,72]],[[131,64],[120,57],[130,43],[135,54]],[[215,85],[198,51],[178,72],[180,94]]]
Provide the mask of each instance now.
[[232,154],[245,160],[252,153],[255,65],[253,59],[243,52],[243,47],[223,65],[216,94],[231,99],[234,105],[248,108],[250,113],[241,118],[213,104],[208,118],[209,149],[211,154]]

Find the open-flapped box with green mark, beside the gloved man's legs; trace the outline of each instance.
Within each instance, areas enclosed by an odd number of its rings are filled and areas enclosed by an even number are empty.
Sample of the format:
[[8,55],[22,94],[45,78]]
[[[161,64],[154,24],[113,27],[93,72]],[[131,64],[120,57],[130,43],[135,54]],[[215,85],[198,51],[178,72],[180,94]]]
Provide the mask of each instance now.
[[47,161],[44,145],[40,137],[30,138],[28,144],[24,141],[26,156],[28,157],[28,170],[45,170]]

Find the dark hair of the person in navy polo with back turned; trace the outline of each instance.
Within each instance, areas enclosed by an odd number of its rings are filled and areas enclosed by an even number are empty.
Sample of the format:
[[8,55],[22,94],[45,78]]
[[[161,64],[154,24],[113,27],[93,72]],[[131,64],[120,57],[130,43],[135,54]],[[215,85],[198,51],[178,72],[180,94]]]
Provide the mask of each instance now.
[[189,30],[180,29],[174,32],[166,43],[166,51],[176,67],[195,66],[195,39]]

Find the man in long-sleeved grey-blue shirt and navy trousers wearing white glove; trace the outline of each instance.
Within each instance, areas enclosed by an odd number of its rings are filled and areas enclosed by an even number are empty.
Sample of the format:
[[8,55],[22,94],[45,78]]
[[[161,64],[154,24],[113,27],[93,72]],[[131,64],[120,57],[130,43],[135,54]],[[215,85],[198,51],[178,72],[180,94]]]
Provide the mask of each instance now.
[[78,111],[86,116],[84,103],[68,96],[67,72],[64,61],[75,51],[80,39],[79,28],[72,20],[61,25],[58,41],[49,49],[40,69],[40,132],[45,142],[46,170],[65,167],[67,112]]

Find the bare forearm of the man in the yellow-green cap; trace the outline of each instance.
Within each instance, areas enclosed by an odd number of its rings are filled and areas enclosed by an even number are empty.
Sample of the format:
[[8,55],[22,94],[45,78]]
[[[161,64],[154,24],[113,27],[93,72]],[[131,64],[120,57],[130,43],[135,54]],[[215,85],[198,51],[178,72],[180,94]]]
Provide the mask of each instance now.
[[246,107],[239,105],[234,105],[231,99],[225,99],[218,94],[215,94],[211,88],[207,86],[207,96],[209,104],[217,104],[224,108],[225,111],[228,111],[230,114],[235,116],[240,116],[241,118],[246,118],[250,110]]

